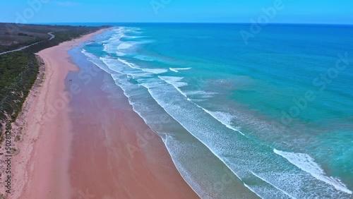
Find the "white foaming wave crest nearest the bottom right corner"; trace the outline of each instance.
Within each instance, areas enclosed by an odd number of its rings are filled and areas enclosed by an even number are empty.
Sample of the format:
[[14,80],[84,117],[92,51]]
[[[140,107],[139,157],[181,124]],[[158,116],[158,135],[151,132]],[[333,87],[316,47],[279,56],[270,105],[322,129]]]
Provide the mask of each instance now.
[[284,152],[276,149],[274,149],[273,152],[284,157],[299,169],[311,174],[314,178],[334,186],[339,191],[352,194],[352,191],[350,191],[347,186],[340,181],[340,179],[335,179],[332,176],[326,176],[325,171],[321,169],[321,167],[315,162],[315,159],[313,159],[310,155],[304,153]]

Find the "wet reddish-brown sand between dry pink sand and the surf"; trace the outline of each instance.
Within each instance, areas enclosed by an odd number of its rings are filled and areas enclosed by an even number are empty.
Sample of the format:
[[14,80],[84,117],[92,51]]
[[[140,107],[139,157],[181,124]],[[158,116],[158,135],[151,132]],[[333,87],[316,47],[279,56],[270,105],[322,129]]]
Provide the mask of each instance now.
[[[199,198],[179,174],[162,138],[133,111],[112,76],[80,50],[71,51],[80,72],[69,73],[72,82],[66,80],[67,88],[80,88],[70,102],[75,121],[72,198]],[[92,78],[83,78],[88,74]]]

